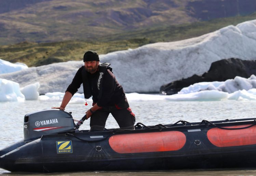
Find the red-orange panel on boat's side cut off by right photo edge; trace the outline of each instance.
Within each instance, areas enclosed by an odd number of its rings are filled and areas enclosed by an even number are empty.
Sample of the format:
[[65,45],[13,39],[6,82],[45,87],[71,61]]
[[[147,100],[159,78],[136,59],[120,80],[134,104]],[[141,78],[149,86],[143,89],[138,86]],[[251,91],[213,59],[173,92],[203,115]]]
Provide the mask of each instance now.
[[[242,128],[250,125],[239,125],[225,128]],[[212,128],[208,130],[209,141],[217,147],[232,147],[256,144],[256,126],[241,130],[224,130]]]

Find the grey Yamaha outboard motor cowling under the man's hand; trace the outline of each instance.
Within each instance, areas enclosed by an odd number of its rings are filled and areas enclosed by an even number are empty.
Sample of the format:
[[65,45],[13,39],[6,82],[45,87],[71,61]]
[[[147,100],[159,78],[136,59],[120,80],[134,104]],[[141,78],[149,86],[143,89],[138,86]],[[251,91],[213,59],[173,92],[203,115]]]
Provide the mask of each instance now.
[[75,130],[70,113],[59,109],[44,109],[26,114],[24,117],[24,140],[40,138],[45,134],[54,134]]

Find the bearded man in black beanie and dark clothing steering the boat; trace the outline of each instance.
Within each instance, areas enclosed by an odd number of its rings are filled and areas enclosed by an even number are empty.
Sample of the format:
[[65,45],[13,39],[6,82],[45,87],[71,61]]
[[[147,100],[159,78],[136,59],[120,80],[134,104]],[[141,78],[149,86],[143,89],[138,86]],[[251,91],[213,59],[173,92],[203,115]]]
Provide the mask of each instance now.
[[72,83],[68,86],[60,107],[64,110],[72,96],[83,84],[84,98],[92,96],[93,106],[86,112],[91,117],[90,131],[103,131],[109,113],[122,129],[134,129],[135,115],[127,102],[123,87],[111,72],[109,63],[99,64],[99,56],[87,51],[83,56],[84,66],[78,69]]

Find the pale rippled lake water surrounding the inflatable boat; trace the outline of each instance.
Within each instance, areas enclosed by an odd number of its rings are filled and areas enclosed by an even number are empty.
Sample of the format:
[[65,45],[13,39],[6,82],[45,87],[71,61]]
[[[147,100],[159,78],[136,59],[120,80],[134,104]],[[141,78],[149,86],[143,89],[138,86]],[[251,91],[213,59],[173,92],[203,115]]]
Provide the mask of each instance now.
[[[136,114],[136,123],[143,124],[171,124],[178,120],[199,122],[203,119],[225,120],[256,117],[256,101],[206,101],[206,102],[171,102],[171,101],[140,101],[129,102]],[[0,148],[23,139],[23,118],[25,114],[60,105],[57,101],[25,101],[0,102]],[[80,119],[86,109],[83,104],[69,104],[67,112],[72,112],[74,119]],[[89,129],[89,121],[80,127]],[[110,115],[106,128],[118,128],[117,122]],[[10,173],[0,168],[0,174],[18,175],[24,173]],[[26,174],[26,173],[25,173]],[[45,175],[45,174],[39,174]],[[54,173],[46,175],[256,175],[256,170],[179,170],[179,171],[138,171],[138,172],[77,172]]]

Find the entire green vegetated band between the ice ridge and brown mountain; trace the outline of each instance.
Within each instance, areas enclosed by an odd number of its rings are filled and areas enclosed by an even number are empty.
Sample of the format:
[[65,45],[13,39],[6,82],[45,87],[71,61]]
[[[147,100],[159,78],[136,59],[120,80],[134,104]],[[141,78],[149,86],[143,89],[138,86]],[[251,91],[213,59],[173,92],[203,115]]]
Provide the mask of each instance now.
[[256,13],[249,16],[219,18],[210,21],[184,25],[159,26],[139,31],[124,32],[88,41],[63,41],[53,43],[22,42],[0,46],[0,58],[10,62],[23,62],[29,67],[82,60],[86,50],[107,54],[155,42],[171,42],[188,39],[213,32],[228,25],[256,19]]

